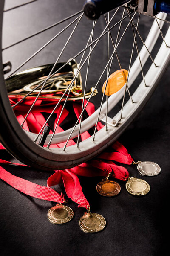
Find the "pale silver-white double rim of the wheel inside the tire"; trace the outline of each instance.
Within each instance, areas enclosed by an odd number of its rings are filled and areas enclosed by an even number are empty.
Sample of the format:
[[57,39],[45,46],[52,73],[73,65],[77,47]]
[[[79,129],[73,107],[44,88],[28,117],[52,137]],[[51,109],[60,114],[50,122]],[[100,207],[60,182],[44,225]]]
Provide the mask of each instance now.
[[[165,20],[166,16],[167,16],[167,14],[159,13],[156,17]],[[164,25],[164,21],[158,19],[158,23],[159,23],[160,28],[162,28],[162,26]],[[156,20],[154,20],[153,25],[152,25],[152,27],[150,29],[150,32],[147,36],[147,39],[145,41],[145,45],[147,46],[147,48],[149,49],[150,52],[152,51],[154,45],[156,44],[156,41],[159,37],[159,34],[160,34],[160,31],[159,31],[158,25],[156,23]],[[168,30],[167,35],[166,35],[167,43],[169,43],[169,40],[168,40],[169,38],[170,38],[170,30]],[[162,43],[162,45],[163,46],[161,47],[161,51],[163,50],[164,53],[165,53],[163,55],[164,55],[164,61],[166,63],[166,61],[169,60],[170,51],[169,51],[169,48],[164,47],[164,42]],[[156,59],[155,59],[156,63],[159,63],[159,59],[160,59],[159,55],[161,55],[161,54],[158,53],[158,55],[157,55],[158,57],[156,57]],[[140,51],[140,58],[141,58],[142,66],[144,66],[148,57],[149,57],[149,53],[148,53],[146,47],[143,46],[141,51]],[[154,74],[154,76],[153,75],[152,76],[154,78],[154,81],[156,81],[157,77],[160,76],[159,75],[160,70],[162,70],[162,68],[164,67],[164,65],[162,65],[162,64],[160,65],[160,63],[157,64],[157,65],[159,67],[155,67],[154,64],[152,64],[152,66],[150,67],[150,70],[148,71],[145,79],[148,79],[150,74]],[[139,73],[140,73],[140,62],[139,62],[139,57],[137,57],[136,61],[134,61],[133,66],[130,69],[128,87],[130,87],[133,84],[133,82],[135,81],[135,79],[139,75]],[[149,81],[149,84],[150,84],[150,81]],[[144,87],[144,84],[142,84],[142,87]],[[139,95],[142,95],[141,93],[143,93],[142,87],[139,86],[139,88],[141,88],[141,89],[137,90],[137,93],[139,93]],[[149,87],[149,88],[151,89],[152,87]],[[111,109],[115,107],[115,105],[119,102],[120,99],[122,99],[124,91],[125,91],[125,86],[122,87],[122,89],[119,90],[117,93],[113,94],[112,96],[110,96],[108,98],[108,112],[111,111]],[[146,102],[146,100],[145,100],[145,102]],[[130,104],[130,102],[128,102],[128,105],[129,104]],[[134,111],[135,110],[136,110],[136,108],[134,109]],[[106,102],[102,106],[102,111],[101,111],[100,116],[105,114],[105,112],[106,112]],[[124,111],[123,112],[125,113],[125,106],[124,106]],[[98,113],[99,113],[99,109],[97,109],[87,119],[82,121],[81,133],[83,133],[85,131],[88,131],[88,129],[90,129],[91,127],[93,127],[95,125]],[[118,113],[113,119],[119,119],[119,116],[120,116],[120,113]],[[111,122],[111,118],[108,117],[108,119]],[[66,131],[60,132],[58,134],[55,134],[54,137],[53,137],[53,144],[58,144],[58,143],[65,142],[68,139],[68,136],[71,133],[71,130],[72,130],[72,128],[68,129]],[[74,132],[71,135],[70,139],[74,139],[75,137],[77,137],[78,132],[79,132],[79,125],[77,125],[76,128],[74,129]],[[36,137],[36,134],[28,132],[28,131],[26,131],[26,134],[28,135],[28,137],[30,137],[31,140],[34,140],[34,138]],[[51,135],[48,135],[48,137],[45,141],[45,145],[47,145],[49,143],[50,138],[51,138]],[[40,140],[40,138],[37,140],[37,143],[39,142],[39,140]]]

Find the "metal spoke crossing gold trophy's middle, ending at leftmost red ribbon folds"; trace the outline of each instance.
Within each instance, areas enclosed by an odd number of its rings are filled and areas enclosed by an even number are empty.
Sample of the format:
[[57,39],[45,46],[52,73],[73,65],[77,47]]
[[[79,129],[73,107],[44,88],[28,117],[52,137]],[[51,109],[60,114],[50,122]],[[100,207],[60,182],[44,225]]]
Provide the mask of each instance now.
[[[60,52],[60,54],[59,54],[59,56],[58,56],[58,58],[57,58],[57,60],[56,60],[56,62],[55,62],[55,64],[54,64],[54,66],[52,67],[52,69],[51,69],[51,71],[50,71],[50,73],[49,73],[49,75],[48,75],[47,78],[49,78],[49,76],[50,76],[51,73],[53,72],[54,68],[56,67],[57,62],[59,61],[59,58],[61,57],[62,53],[64,52],[64,50],[65,50],[65,48],[66,48],[66,46],[68,45],[68,42],[70,41],[70,39],[71,39],[71,37],[72,37],[74,31],[76,30],[76,28],[77,28],[77,26],[78,26],[80,20],[82,19],[82,16],[83,16],[83,13],[82,13],[82,15],[80,15],[79,20],[77,21],[76,26],[74,27],[74,29],[73,29],[73,31],[71,32],[71,34],[70,34],[68,40],[66,41],[64,47],[62,48],[62,51]],[[21,124],[21,127],[23,126],[23,124],[24,124],[24,122],[26,121],[26,119],[27,119],[29,113],[31,112],[32,108],[34,107],[35,103],[37,102],[37,99],[39,98],[39,96],[40,96],[40,94],[41,94],[43,88],[45,87],[45,84],[46,84],[46,83],[47,83],[47,81],[45,81],[44,84],[42,85],[42,87],[41,87],[41,89],[40,89],[40,92],[38,93],[36,99],[34,100],[33,104],[31,105],[31,108],[29,109],[29,111],[28,111],[28,113],[27,113],[25,119],[23,120],[23,123]]]

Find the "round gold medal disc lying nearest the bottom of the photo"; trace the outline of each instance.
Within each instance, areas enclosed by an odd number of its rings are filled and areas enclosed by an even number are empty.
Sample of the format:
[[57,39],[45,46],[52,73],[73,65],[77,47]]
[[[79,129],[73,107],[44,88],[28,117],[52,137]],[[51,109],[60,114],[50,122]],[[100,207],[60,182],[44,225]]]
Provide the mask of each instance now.
[[79,225],[82,231],[86,233],[94,233],[104,229],[106,220],[100,214],[85,212],[85,215],[79,220]]

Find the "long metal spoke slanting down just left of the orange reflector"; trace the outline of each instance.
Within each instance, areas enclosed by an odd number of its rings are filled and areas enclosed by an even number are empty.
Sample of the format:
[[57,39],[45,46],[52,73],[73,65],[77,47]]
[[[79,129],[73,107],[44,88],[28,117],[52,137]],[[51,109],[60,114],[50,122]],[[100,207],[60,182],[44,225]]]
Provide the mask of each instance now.
[[[136,15],[136,12],[134,13],[133,17],[134,17],[135,15]],[[131,20],[133,19],[133,17],[131,18]],[[120,22],[121,22],[121,20],[120,20]],[[131,21],[130,21],[130,22],[131,22]],[[107,69],[107,67],[108,67],[108,65],[109,65],[109,63],[110,63],[110,61],[111,61],[111,59],[112,59],[112,57],[113,57],[113,55],[114,55],[116,49],[117,49],[117,47],[119,46],[119,44],[120,44],[120,42],[121,42],[123,36],[125,35],[125,32],[127,31],[127,28],[128,28],[129,25],[130,25],[130,22],[128,23],[128,25],[127,25],[125,31],[123,32],[122,37],[121,37],[120,40],[119,40],[119,43],[116,45],[116,47],[115,47],[115,49],[114,49],[114,51],[113,51],[113,53],[112,53],[112,55],[111,55],[111,57],[110,57],[108,63],[106,64],[106,66],[105,66],[105,68],[104,68],[104,70],[103,70],[103,72],[102,72],[102,74],[101,74],[101,76],[99,77],[99,80],[97,81],[96,86],[94,87],[94,90],[96,89],[97,85],[99,84],[99,81],[101,80],[103,74],[105,73],[105,71],[106,71],[106,69]],[[83,110],[82,110],[82,113],[80,114],[80,116],[79,116],[79,118],[78,118],[76,124],[74,125],[74,128],[72,129],[72,131],[71,131],[71,133],[70,133],[70,135],[69,135],[69,137],[68,137],[68,140],[66,141],[65,146],[64,146],[64,148],[62,149],[63,151],[65,151],[65,148],[66,148],[66,146],[67,146],[67,144],[68,144],[68,141],[70,140],[70,137],[71,137],[71,135],[73,134],[74,129],[76,128],[77,123],[79,122],[79,119],[81,118],[83,112],[85,111],[85,108],[87,107],[88,102],[90,101],[91,97],[93,96],[93,93],[94,93],[94,92],[91,93],[91,96],[89,97],[88,101],[86,102],[86,105],[85,105],[85,107],[84,107]]]

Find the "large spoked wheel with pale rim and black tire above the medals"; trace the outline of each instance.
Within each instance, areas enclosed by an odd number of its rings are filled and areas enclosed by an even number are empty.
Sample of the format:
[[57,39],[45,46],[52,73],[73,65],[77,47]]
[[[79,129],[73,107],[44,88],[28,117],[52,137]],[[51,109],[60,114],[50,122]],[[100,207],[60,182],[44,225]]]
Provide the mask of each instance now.
[[[68,169],[90,160],[111,145],[142,110],[170,61],[168,15],[160,13],[153,18],[122,6],[91,21],[80,11],[83,2],[54,0],[48,6],[45,1],[37,0],[7,8],[5,1],[0,1],[0,41],[6,44],[0,43],[0,141],[18,160],[38,169]],[[59,15],[52,18],[50,10],[54,8]],[[42,17],[40,22],[33,18],[38,11]],[[14,24],[10,15],[17,15]],[[49,25],[48,19],[55,22],[54,25]],[[30,29],[26,31],[23,26],[28,22]],[[34,32],[35,28],[38,32]],[[48,35],[49,28],[52,37]],[[16,43],[8,43],[8,33]],[[18,35],[19,40],[15,39]],[[48,37],[51,38],[47,41]],[[119,58],[123,55],[121,52],[124,52],[122,59]],[[10,62],[6,62],[8,60]],[[8,72],[11,63],[13,68]],[[128,75],[122,88],[110,96],[105,95],[104,82],[111,73],[119,70],[122,74],[124,69]],[[52,96],[46,95],[47,90]],[[44,125],[36,132],[26,129],[24,124],[38,100],[45,105],[47,99],[54,111],[61,108],[57,119],[50,107],[51,113],[44,116]],[[25,108],[26,100],[31,105],[20,123],[16,110]],[[64,110],[72,108],[73,102],[82,106],[81,112],[67,125]],[[96,111],[85,116],[91,103]],[[44,105],[38,106],[41,113]],[[49,125],[50,119],[53,128]],[[61,119],[65,129],[59,130]],[[102,123],[100,129],[97,128],[99,122]],[[39,145],[46,125],[51,127],[51,134]],[[83,140],[81,135],[86,131],[90,136]]]

